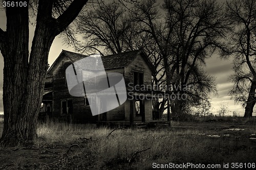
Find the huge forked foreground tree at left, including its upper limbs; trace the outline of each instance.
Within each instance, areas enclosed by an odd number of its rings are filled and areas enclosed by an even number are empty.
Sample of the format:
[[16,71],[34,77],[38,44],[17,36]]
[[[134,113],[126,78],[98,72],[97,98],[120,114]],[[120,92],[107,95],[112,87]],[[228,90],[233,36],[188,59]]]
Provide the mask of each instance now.
[[[3,147],[14,147],[37,136],[36,122],[51,44],[87,3],[38,0],[29,53],[29,1],[25,2],[27,6],[6,7],[7,29],[0,29],[0,50],[4,57],[4,129],[0,139]],[[53,15],[55,10],[59,10],[57,16]]]

